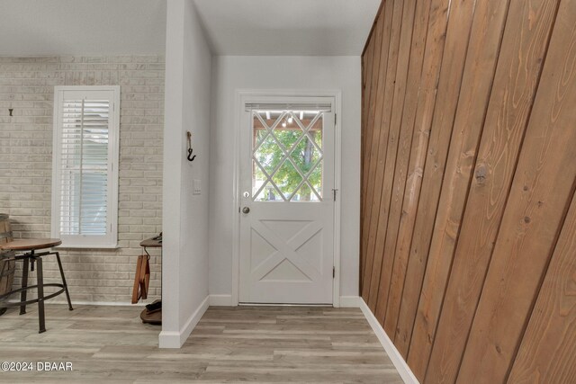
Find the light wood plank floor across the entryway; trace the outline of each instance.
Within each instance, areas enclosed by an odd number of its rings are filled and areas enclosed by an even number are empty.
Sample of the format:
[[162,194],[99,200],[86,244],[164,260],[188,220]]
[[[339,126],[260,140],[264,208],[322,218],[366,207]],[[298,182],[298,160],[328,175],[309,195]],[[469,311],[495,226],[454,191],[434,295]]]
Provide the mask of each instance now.
[[[209,308],[182,349],[157,348],[158,326],[141,307],[46,306],[38,334],[34,306],[0,317],[0,382],[401,383],[357,308]],[[36,362],[72,362],[73,371],[36,371]]]

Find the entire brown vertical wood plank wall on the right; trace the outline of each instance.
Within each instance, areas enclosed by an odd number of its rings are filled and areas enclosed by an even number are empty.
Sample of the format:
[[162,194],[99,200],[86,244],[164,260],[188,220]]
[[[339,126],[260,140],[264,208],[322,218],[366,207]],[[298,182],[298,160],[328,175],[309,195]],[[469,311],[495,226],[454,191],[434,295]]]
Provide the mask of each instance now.
[[423,383],[576,383],[576,0],[384,0],[360,291]]

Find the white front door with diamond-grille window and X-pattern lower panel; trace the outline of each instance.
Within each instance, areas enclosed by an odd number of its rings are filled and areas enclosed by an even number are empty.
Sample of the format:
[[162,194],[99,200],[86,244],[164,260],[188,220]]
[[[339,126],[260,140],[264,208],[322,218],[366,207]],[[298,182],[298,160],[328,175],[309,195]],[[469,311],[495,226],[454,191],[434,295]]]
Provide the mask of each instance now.
[[335,121],[323,101],[247,105],[240,302],[332,303]]

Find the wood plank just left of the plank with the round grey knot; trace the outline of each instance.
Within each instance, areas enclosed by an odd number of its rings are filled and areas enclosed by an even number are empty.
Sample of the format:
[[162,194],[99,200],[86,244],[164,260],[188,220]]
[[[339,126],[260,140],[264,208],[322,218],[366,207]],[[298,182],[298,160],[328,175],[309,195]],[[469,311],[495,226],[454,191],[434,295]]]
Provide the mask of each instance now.
[[454,133],[408,355],[419,380],[424,380],[428,369],[508,12],[507,1],[475,4]]

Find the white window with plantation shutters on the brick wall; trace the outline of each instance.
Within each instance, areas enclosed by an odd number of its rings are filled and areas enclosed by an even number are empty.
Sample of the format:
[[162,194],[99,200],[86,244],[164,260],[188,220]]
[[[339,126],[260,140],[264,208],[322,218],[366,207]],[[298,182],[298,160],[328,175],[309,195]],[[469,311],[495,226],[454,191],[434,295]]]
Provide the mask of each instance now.
[[115,247],[119,86],[57,86],[52,237],[64,247]]

